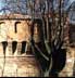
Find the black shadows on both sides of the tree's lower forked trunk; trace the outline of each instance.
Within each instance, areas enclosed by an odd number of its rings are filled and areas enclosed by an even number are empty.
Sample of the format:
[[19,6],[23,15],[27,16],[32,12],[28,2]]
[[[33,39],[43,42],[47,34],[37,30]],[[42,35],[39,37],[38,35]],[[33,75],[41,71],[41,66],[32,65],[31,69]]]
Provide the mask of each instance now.
[[[46,54],[47,56],[49,56],[47,54],[47,50],[46,50],[46,47],[43,43],[39,42],[37,43],[38,48],[43,52],[43,54]],[[38,61],[41,65],[41,68],[42,70],[45,72],[46,68],[49,67],[49,62],[46,61],[40,54],[39,52],[37,52],[36,50],[36,54],[37,54],[37,57],[38,57]],[[66,50],[65,49],[61,49],[61,50],[58,50],[57,52],[53,52],[52,53],[52,69],[51,69],[51,73],[50,75],[51,76],[55,76],[58,77],[59,73],[64,68],[65,66],[65,62],[66,62]]]

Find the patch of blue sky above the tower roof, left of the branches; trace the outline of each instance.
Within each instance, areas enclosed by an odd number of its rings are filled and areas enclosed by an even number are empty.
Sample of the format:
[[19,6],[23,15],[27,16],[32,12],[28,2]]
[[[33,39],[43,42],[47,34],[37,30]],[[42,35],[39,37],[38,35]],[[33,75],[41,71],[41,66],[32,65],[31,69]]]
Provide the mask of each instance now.
[[[5,2],[5,0],[0,0],[0,14],[3,14],[3,10],[2,9],[9,9],[9,10],[5,10],[5,12],[17,12],[18,10],[21,12],[24,12],[26,11],[26,4],[25,4],[25,1],[26,0],[18,0],[21,3],[20,3],[20,9],[17,8],[17,0],[8,0],[8,2]],[[9,4],[8,4],[9,3]],[[23,10],[24,9],[24,10]]]

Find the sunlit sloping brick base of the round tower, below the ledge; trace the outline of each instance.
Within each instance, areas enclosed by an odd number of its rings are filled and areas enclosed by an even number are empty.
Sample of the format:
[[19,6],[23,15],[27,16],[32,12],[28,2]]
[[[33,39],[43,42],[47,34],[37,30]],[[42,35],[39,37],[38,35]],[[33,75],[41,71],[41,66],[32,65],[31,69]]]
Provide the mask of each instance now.
[[3,77],[39,77],[41,74],[40,66],[34,56],[9,56],[5,57],[4,69],[2,66],[0,57],[0,76],[3,70]]

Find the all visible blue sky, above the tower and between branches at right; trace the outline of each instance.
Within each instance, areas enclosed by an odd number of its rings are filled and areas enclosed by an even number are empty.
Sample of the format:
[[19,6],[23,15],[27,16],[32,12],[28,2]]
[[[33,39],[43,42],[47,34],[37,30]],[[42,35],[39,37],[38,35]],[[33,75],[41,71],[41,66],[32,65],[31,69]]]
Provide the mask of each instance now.
[[[7,1],[7,2],[5,2]],[[28,0],[0,0],[0,14],[3,14],[4,11],[5,13],[26,13],[26,4],[25,2]],[[29,0],[30,1],[30,0]],[[38,1],[38,0],[37,0]],[[59,0],[53,0],[53,5],[54,10],[58,9],[58,1]],[[70,5],[74,2],[75,0],[64,0],[64,10],[67,10]],[[17,2],[20,5],[17,6]],[[38,5],[36,9],[39,8]],[[37,9],[38,10],[38,9]]]

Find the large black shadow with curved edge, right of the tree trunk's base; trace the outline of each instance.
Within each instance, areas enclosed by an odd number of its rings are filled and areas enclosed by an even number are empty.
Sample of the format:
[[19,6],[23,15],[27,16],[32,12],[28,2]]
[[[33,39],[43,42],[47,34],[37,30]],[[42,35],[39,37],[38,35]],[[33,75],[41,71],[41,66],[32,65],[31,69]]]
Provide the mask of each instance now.
[[58,76],[59,73],[64,68],[65,62],[66,62],[66,50],[61,49],[58,50],[57,52],[52,53],[52,69],[51,69],[51,75],[52,76]]

